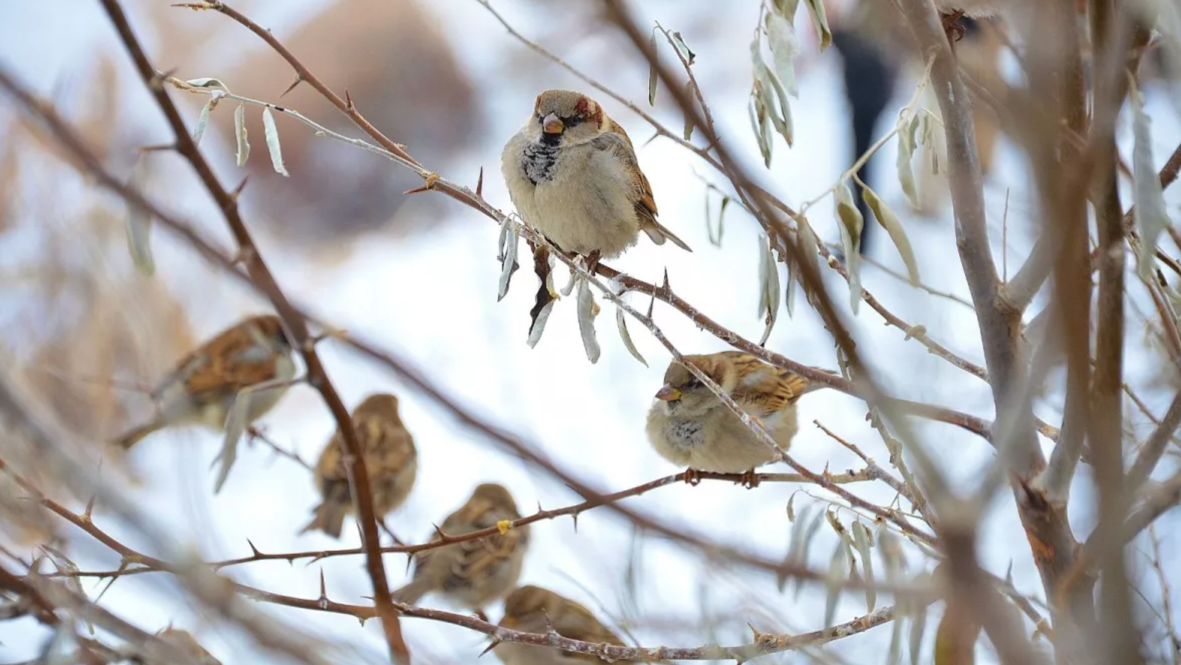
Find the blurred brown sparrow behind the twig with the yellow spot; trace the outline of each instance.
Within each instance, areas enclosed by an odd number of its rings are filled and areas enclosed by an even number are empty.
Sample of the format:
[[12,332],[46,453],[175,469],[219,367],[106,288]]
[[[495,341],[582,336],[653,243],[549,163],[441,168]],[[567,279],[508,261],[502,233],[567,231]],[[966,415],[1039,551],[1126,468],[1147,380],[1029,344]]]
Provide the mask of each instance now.
[[[458,536],[520,517],[509,490],[484,483],[443,521],[442,529],[449,536]],[[433,540],[438,540],[438,534]],[[415,556],[413,580],[393,592],[393,598],[413,605],[426,593],[439,592],[457,605],[478,609],[516,585],[528,546],[529,527],[526,526],[419,552]]]

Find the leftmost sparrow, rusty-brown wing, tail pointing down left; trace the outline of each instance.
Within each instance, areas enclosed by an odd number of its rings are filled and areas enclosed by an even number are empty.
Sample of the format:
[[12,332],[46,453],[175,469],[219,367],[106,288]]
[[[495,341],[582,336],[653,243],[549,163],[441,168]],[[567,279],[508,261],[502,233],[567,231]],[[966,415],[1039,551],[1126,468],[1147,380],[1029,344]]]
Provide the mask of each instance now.
[[[154,431],[172,425],[200,424],[220,430],[226,426],[239,391],[294,376],[291,343],[279,317],[252,317],[181,359],[151,392],[159,400],[156,417],[116,441],[131,448]],[[247,422],[262,417],[286,390],[281,386],[252,395]]]

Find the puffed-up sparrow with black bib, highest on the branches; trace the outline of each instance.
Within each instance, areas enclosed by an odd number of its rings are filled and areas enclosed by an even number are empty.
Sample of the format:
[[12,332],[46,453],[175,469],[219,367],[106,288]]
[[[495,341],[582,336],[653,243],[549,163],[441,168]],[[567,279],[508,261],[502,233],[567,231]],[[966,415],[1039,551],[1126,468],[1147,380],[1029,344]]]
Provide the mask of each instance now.
[[547,90],[501,152],[501,171],[526,222],[567,252],[618,256],[642,230],[657,245],[671,240],[657,222],[652,185],[632,139],[586,94]]

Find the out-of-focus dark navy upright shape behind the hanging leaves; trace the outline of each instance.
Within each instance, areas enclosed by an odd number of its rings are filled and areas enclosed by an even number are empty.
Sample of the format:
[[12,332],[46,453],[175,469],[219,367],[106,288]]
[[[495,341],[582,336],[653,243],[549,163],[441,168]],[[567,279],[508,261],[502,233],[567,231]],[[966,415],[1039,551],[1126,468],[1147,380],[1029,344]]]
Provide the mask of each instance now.
[[[894,97],[894,80],[898,78],[899,65],[886,53],[879,40],[864,34],[859,27],[833,27],[833,46],[841,54],[844,69],[844,97],[849,100],[849,118],[853,125],[853,155],[849,163],[861,157],[874,141],[874,128],[890,98]],[[861,182],[870,183],[870,169],[877,157],[869,158],[860,169]],[[875,226],[873,213],[861,196],[861,188],[855,187],[857,209],[866,219],[861,232],[861,253],[869,249],[869,229]]]

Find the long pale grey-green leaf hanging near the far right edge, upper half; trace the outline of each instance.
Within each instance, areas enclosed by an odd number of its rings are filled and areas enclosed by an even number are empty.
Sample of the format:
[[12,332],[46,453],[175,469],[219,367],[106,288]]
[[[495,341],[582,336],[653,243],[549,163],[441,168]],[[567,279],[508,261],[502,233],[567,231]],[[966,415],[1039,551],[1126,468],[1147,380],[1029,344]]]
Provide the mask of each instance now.
[[1133,167],[1133,203],[1136,227],[1140,232],[1140,276],[1153,279],[1156,266],[1156,241],[1162,230],[1169,226],[1169,216],[1164,210],[1164,193],[1161,189],[1160,176],[1153,165],[1151,118],[1144,112],[1144,98],[1140,90],[1131,91],[1133,135],[1135,144],[1131,149]]

